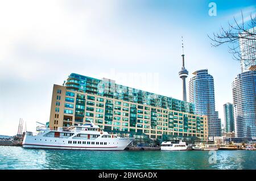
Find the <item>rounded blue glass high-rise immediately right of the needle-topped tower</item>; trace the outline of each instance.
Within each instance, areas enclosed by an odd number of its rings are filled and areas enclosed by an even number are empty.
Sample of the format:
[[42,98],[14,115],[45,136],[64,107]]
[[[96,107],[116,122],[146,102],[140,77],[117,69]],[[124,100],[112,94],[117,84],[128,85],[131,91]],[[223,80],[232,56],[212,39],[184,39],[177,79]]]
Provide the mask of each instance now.
[[208,70],[197,70],[189,80],[189,102],[198,115],[208,116],[208,136],[221,136],[221,120],[215,111],[214,80]]

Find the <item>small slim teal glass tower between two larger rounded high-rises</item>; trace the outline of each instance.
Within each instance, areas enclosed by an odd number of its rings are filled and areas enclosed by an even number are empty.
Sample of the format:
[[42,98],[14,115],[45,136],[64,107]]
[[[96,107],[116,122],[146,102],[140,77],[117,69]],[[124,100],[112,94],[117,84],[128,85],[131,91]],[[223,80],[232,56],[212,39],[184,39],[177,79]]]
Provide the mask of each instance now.
[[223,105],[224,108],[224,119],[225,119],[225,132],[234,132],[234,113],[233,104],[226,103]]

